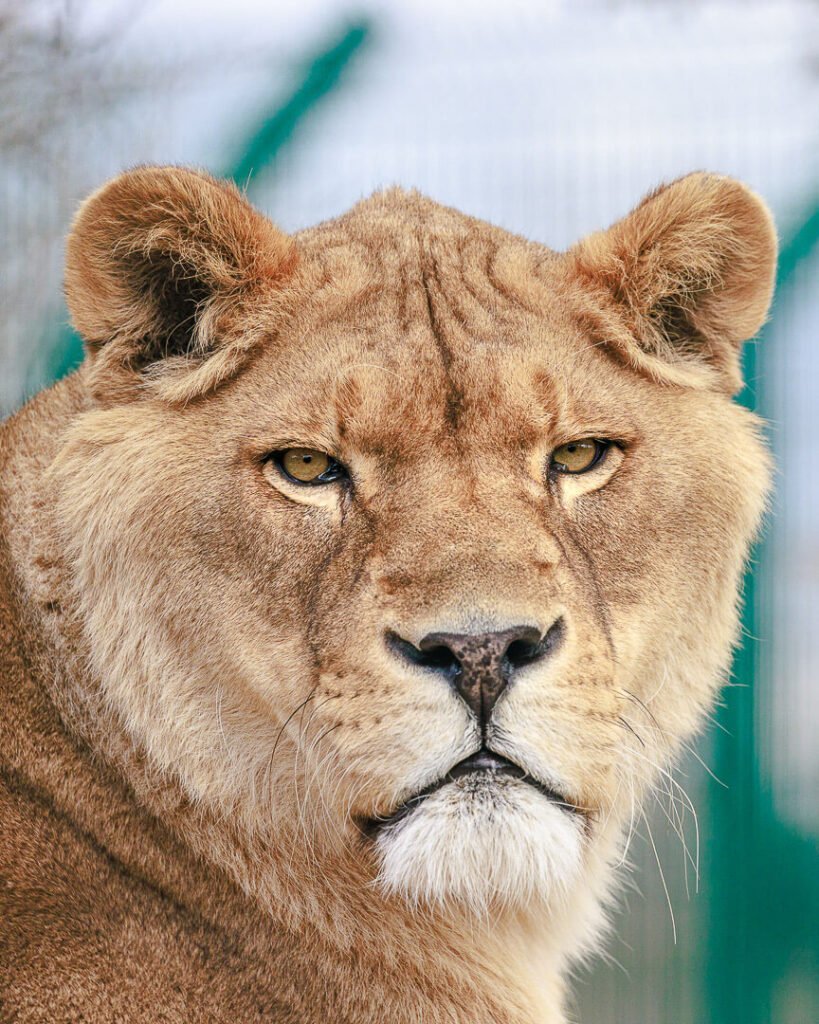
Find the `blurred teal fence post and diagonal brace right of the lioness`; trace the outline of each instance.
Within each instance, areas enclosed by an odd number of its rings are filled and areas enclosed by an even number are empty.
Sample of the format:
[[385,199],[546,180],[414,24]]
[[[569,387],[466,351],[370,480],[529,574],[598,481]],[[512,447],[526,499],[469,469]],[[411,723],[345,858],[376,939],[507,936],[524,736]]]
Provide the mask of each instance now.
[[[796,271],[819,247],[819,203],[782,245],[773,315],[758,343],[744,352],[742,404],[763,417],[773,412],[766,394],[774,360],[773,327],[799,286]],[[758,721],[764,687],[775,685],[766,664],[771,636],[769,546],[757,545],[744,581],[743,642],[718,721],[715,772],[728,788],[710,787],[706,869],[709,882],[706,985],[710,1024],[779,1024],[776,989],[793,972],[819,972],[819,851],[776,815],[762,770]],[[819,1021],[810,986],[794,979],[805,1000],[800,1024]],[[703,1022],[704,1024],[704,1022]]]

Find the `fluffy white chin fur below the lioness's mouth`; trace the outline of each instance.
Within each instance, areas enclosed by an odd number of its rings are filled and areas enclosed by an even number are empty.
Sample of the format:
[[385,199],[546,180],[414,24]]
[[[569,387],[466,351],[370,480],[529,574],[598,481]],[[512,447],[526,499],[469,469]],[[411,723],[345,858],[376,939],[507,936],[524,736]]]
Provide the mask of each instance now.
[[528,783],[481,773],[427,797],[376,848],[386,891],[483,913],[564,893],[580,869],[583,825]]

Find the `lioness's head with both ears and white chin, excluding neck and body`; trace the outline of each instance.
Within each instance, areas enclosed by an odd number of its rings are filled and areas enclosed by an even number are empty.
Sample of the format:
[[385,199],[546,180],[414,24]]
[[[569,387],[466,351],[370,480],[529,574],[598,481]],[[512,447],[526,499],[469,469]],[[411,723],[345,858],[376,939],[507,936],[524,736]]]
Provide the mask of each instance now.
[[728,665],[773,254],[704,175],[564,255],[401,193],[295,240],[188,172],[93,197],[48,489],[133,742],[387,894],[564,900]]

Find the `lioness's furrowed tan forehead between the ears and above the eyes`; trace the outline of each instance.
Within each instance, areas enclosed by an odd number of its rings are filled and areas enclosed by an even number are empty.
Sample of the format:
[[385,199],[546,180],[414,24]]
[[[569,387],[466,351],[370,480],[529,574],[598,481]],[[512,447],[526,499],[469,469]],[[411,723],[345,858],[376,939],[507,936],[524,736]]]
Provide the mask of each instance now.
[[426,224],[364,204],[302,244],[297,313],[251,375],[258,408],[316,444],[404,459],[454,438],[508,452],[604,416],[623,387],[600,386],[549,251],[429,207]]

